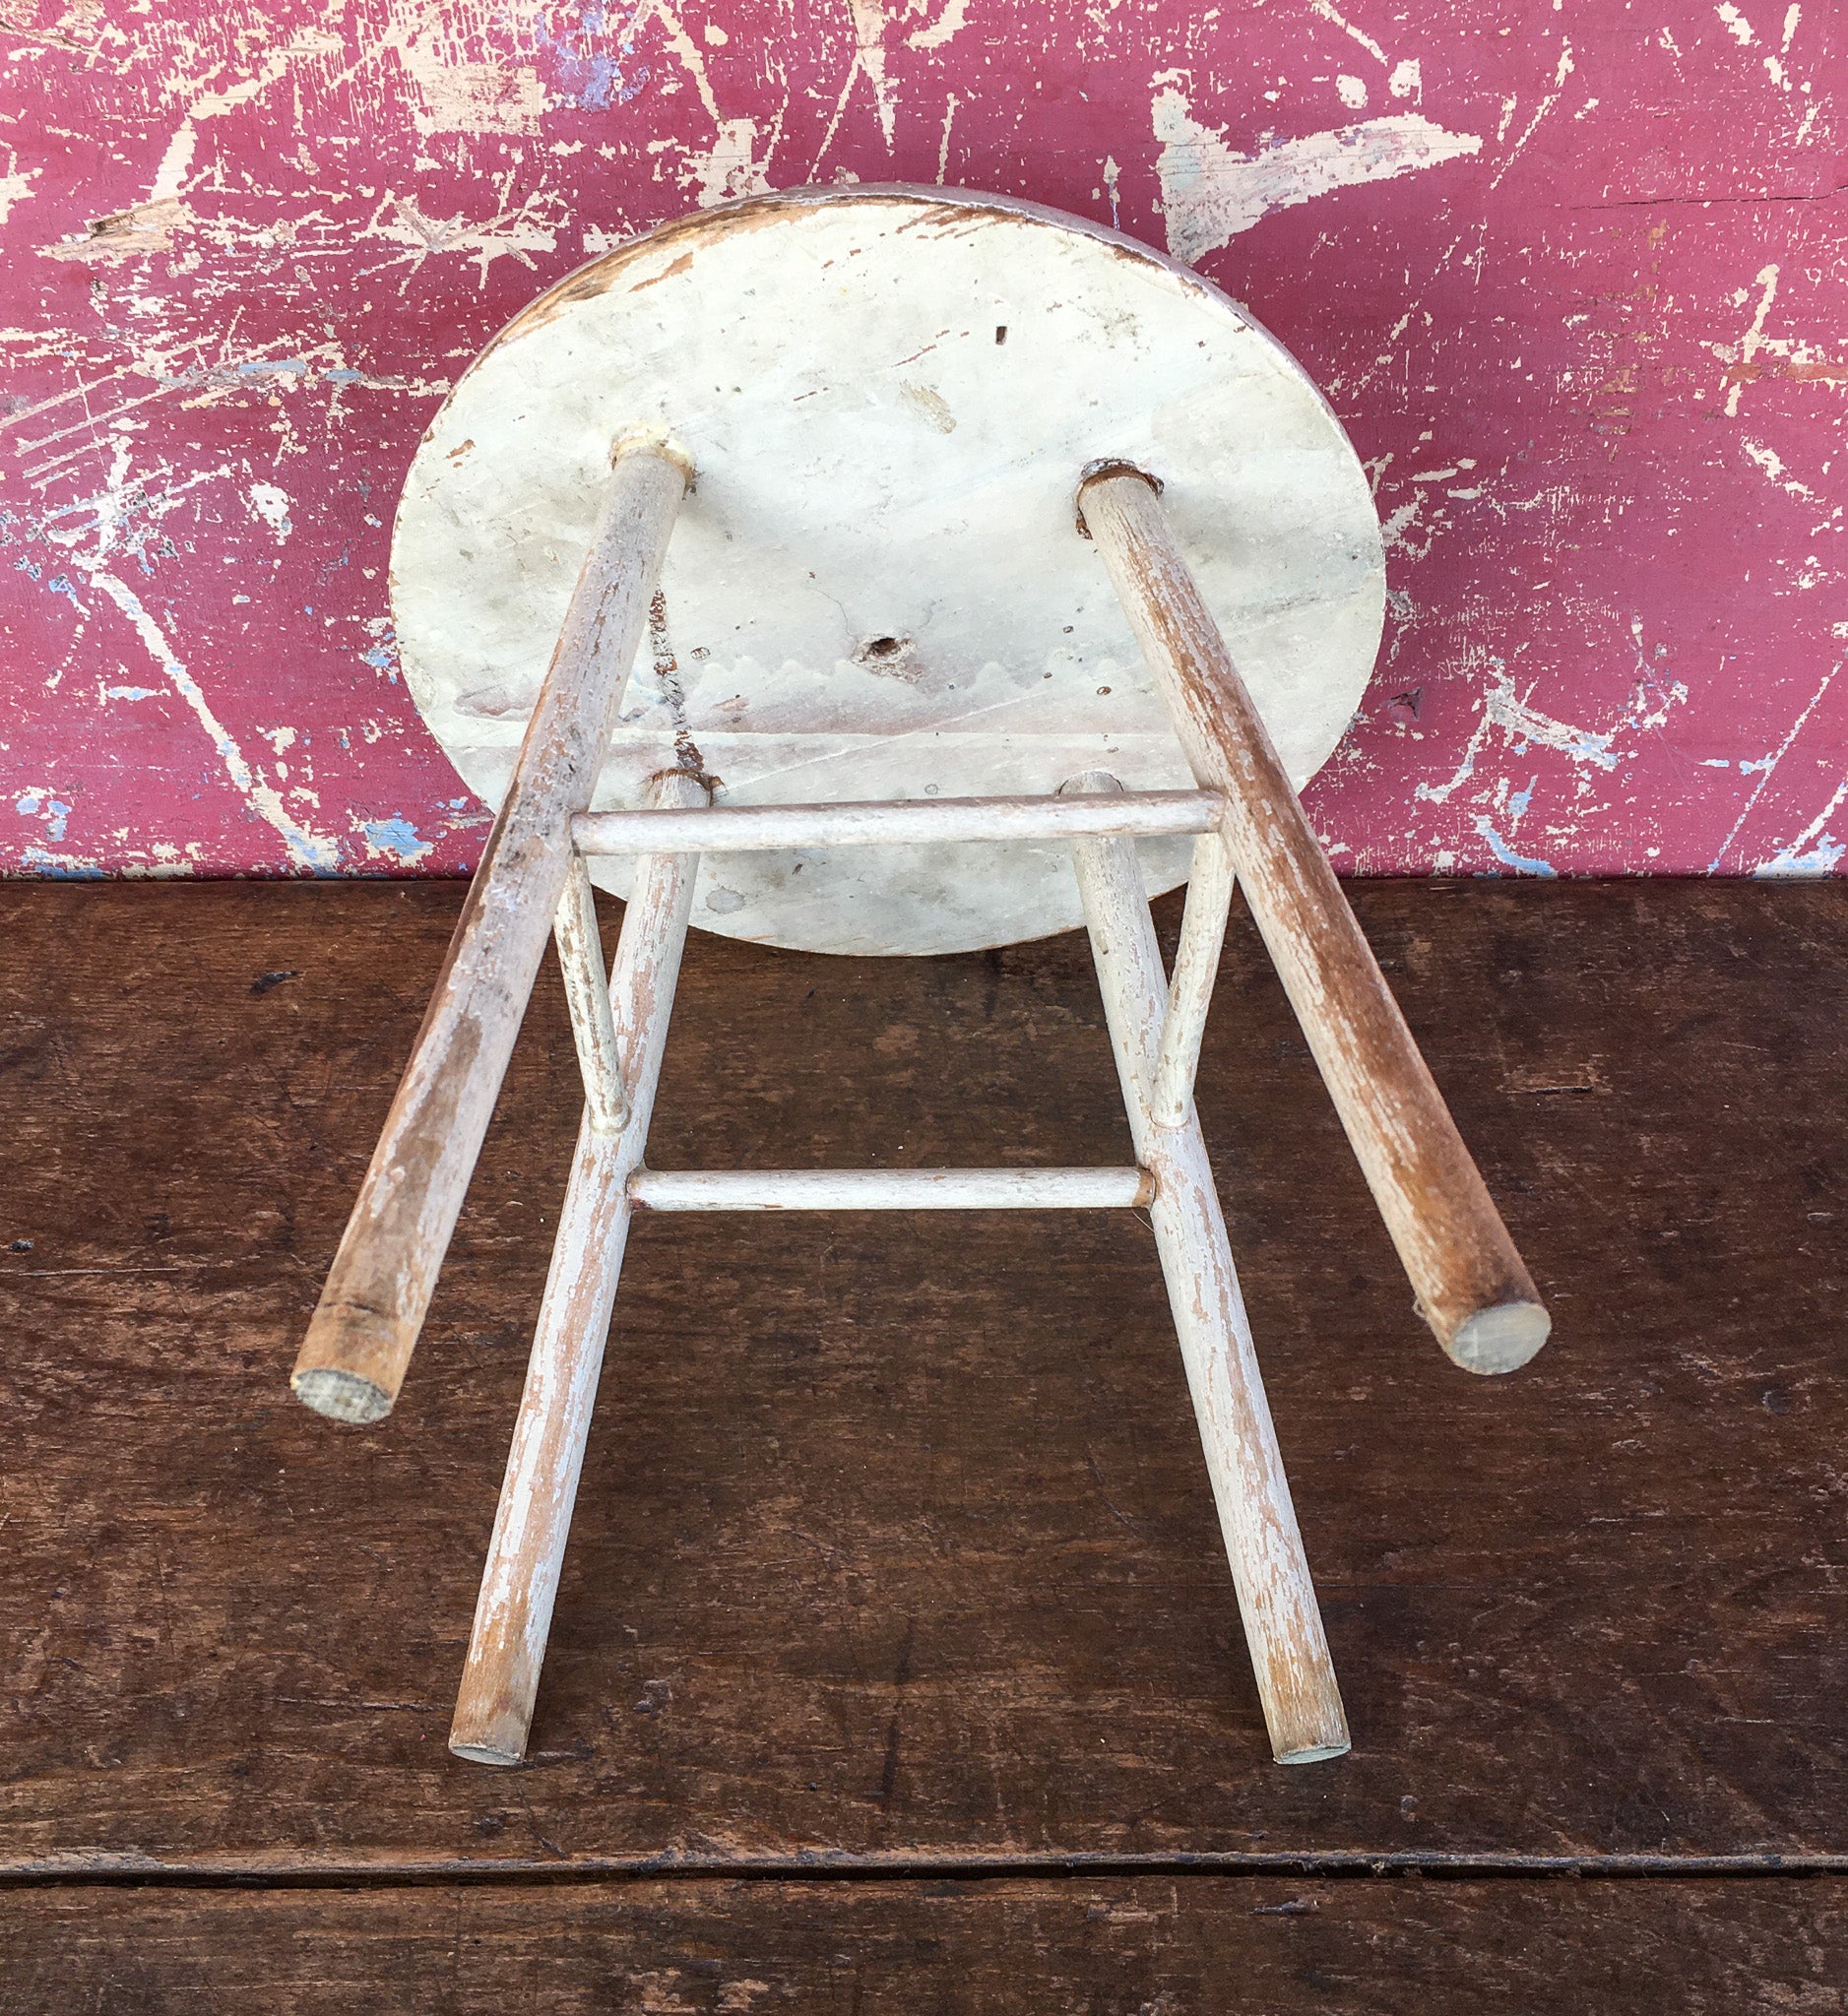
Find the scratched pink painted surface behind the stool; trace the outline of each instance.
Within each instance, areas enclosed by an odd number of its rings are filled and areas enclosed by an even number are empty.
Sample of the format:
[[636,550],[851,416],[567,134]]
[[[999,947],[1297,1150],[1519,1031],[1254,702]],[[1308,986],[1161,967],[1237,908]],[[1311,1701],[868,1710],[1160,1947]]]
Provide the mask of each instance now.
[[850,177],[1114,216],[1328,391],[1393,605],[1344,869],[1848,847],[1828,0],[0,10],[0,869],[472,867],[385,601],[419,431],[605,244]]

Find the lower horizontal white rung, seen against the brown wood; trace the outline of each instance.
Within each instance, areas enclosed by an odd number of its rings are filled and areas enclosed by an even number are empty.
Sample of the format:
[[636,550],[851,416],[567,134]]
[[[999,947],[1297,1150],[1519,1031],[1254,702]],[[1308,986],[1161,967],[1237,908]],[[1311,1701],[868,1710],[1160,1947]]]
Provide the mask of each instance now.
[[637,1169],[651,1212],[1106,1212],[1151,1204],[1147,1169]]

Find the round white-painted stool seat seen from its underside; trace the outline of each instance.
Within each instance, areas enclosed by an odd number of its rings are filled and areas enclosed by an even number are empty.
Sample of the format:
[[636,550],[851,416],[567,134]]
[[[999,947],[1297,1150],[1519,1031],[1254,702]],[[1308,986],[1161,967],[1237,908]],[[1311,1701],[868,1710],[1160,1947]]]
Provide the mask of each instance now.
[[[498,804],[623,437],[695,470],[595,810],[1193,784],[1104,566],[1086,468],[1163,506],[1298,786],[1378,649],[1384,564],[1334,413],[1251,317],[1078,218],[933,187],[681,220],[518,314],[423,437],[393,534],[411,694]],[[1145,841],[1151,893],[1191,843]],[[627,893],[633,863],[592,875]],[[941,954],[1082,921],[1064,845],[703,857],[693,923]]]

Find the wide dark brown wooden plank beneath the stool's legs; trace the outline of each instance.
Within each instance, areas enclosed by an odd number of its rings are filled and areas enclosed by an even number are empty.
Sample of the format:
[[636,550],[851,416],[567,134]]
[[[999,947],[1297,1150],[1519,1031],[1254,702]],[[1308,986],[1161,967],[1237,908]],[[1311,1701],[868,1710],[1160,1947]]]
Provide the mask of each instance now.
[[[443,1730],[556,976],[417,1375],[339,1429],[288,1365],[459,889],[0,889],[0,1861],[1848,1849],[1848,891],[1352,895],[1558,1318],[1507,1381],[1423,1345],[1235,913],[1201,1115],[1354,1754],[1268,1760],[1131,1216],[661,1218],[508,1774]],[[699,937],[653,1149],[1118,1163],[1088,954]]]

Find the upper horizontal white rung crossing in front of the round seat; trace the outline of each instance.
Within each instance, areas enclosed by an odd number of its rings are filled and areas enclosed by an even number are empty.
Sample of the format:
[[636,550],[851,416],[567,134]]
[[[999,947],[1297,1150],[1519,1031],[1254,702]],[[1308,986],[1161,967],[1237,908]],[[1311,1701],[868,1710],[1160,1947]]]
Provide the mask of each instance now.
[[949,841],[1072,841],[1086,833],[1157,839],[1207,833],[1215,790],[1127,790],[1086,798],[871,798],[863,804],[715,804],[709,810],[582,812],[572,839],[586,855],[697,849],[703,855],[786,847],[937,847]]

